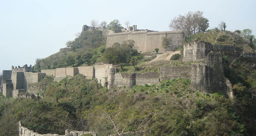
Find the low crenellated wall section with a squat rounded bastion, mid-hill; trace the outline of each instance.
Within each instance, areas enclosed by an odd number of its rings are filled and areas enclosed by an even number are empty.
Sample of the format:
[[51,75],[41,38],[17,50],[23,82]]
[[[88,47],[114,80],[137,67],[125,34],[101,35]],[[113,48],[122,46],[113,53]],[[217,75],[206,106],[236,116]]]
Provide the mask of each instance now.
[[154,85],[159,83],[158,72],[148,73],[116,73],[113,86]]

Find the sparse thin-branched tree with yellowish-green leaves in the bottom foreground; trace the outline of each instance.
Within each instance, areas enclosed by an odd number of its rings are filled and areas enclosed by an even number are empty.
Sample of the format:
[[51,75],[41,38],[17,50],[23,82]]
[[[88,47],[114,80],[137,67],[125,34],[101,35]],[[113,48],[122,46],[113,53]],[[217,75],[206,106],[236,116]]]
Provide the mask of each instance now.
[[132,132],[134,136],[144,135],[154,130],[152,122],[157,119],[157,110],[147,111],[144,114],[133,112],[130,115],[122,115],[121,112],[122,110],[116,108],[114,104],[110,104],[107,108],[98,105],[89,118],[110,123],[118,136],[122,136],[128,128],[134,130]]

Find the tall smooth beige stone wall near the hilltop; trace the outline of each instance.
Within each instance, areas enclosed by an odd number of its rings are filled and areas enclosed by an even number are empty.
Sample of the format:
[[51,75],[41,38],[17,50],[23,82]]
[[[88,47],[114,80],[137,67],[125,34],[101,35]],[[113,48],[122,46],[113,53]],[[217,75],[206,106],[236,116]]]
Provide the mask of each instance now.
[[107,35],[106,48],[112,47],[114,43],[121,44],[123,41],[133,40],[135,42],[135,48],[139,52],[153,52],[155,48],[159,48],[159,53],[164,53],[165,49],[162,47],[163,37],[172,38],[171,47],[167,51],[175,51],[183,41],[183,31],[149,32],[145,30],[113,33]]

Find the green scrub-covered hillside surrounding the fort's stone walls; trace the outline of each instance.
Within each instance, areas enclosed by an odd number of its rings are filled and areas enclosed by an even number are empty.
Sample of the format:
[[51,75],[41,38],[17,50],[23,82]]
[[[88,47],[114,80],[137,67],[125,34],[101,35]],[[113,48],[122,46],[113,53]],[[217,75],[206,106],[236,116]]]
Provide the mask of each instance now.
[[[237,48],[234,52],[222,51],[224,74],[233,85],[233,99],[218,90],[212,94],[192,90],[190,79],[162,80],[157,85],[131,88],[107,88],[106,84],[99,84],[95,78],[86,79],[82,74],[67,76],[60,82],[45,76],[40,82],[29,85],[38,95],[35,100],[1,96],[0,125],[4,127],[0,128],[0,135],[8,132],[17,135],[19,120],[23,126],[40,134],[64,134],[65,129],[96,132],[99,136],[116,134],[111,122],[97,118],[105,111],[110,115],[108,118],[114,120],[116,129],[132,122],[124,132],[135,132],[143,122],[141,120],[146,120],[140,130],[146,129],[144,135],[147,136],[254,136],[255,60],[243,58],[240,54],[243,51],[255,52],[255,47],[250,47],[248,40],[240,34],[229,31],[210,30],[186,37],[183,42],[195,41]],[[106,63],[104,52],[110,48],[105,50],[105,44],[106,38],[101,31],[83,31],[74,41],[67,43],[68,48],[38,60],[35,70]],[[120,62],[116,72],[159,72],[161,66],[191,66],[203,62],[182,61],[183,44],[177,48],[177,53],[151,57],[134,55],[132,53],[136,50],[132,49],[129,42],[110,49],[110,52],[127,51],[122,55],[131,59],[116,60]],[[111,58],[109,62],[115,64],[116,61]]]

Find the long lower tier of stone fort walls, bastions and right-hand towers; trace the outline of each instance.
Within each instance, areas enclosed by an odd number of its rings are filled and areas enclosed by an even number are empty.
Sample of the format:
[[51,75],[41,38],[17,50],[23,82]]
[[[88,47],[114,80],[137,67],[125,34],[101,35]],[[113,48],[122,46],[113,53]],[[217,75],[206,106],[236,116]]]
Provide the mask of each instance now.
[[[41,70],[41,73],[33,73],[33,67],[13,67],[12,70],[4,70],[1,76],[1,93],[6,97],[24,97],[20,94],[31,92],[28,89],[30,83],[39,82],[44,76],[55,77],[55,81],[61,81],[66,76],[82,74],[87,79],[96,78],[98,83],[108,87],[134,85],[153,85],[161,80],[172,80],[177,78],[190,79],[191,89],[205,93],[223,92],[232,98],[232,89],[228,79],[224,77],[223,61],[221,51],[235,51],[234,46],[211,45],[207,42],[191,42],[184,44],[183,61],[202,60],[189,66],[163,66],[160,72],[148,73],[116,73],[112,64],[68,67]],[[244,57],[254,57],[255,54],[248,53]],[[105,79],[107,77],[107,79]]]

